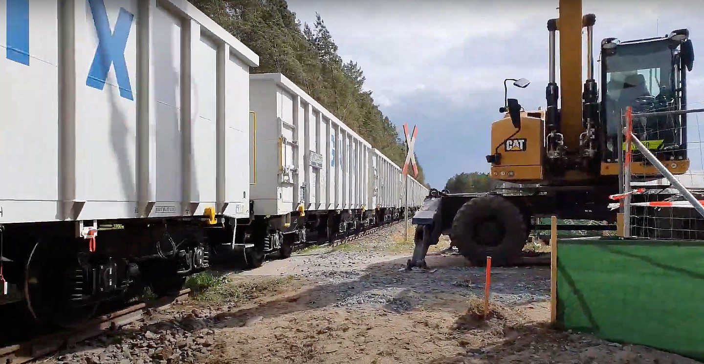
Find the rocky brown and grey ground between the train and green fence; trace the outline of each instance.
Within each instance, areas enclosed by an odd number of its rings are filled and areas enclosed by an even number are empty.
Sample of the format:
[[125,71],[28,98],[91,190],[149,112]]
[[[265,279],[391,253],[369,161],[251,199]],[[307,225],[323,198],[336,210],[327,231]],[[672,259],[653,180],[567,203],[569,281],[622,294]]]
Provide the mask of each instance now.
[[[484,268],[441,241],[403,270],[402,227],[230,275],[221,284],[43,363],[697,363],[552,330],[548,268]],[[410,235],[412,236],[412,235]]]

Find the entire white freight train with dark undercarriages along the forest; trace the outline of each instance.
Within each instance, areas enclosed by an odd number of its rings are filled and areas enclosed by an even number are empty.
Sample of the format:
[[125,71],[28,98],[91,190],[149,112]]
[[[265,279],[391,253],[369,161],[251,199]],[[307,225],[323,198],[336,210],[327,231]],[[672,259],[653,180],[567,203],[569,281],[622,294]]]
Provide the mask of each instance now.
[[[401,168],[183,0],[0,0],[0,303],[70,326],[404,213]],[[1,17],[2,15],[0,15]],[[408,178],[409,208],[427,189]],[[241,253],[241,254],[239,254]]]

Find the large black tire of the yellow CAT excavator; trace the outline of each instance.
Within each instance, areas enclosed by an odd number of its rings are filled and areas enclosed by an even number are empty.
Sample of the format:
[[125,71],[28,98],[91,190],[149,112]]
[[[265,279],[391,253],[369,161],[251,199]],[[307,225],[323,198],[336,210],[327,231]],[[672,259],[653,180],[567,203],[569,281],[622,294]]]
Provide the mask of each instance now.
[[451,241],[474,265],[505,266],[515,263],[528,239],[519,208],[499,195],[467,201],[452,222]]

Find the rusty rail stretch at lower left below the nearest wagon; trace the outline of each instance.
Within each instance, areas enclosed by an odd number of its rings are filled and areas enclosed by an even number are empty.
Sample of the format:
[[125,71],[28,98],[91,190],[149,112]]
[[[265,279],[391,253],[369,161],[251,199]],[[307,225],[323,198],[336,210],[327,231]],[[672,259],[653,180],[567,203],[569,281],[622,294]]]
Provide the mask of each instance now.
[[[176,299],[187,296],[190,291],[190,289],[180,291]],[[151,305],[147,305],[144,302],[137,303],[113,313],[93,318],[73,330],[54,332],[20,344],[6,346],[0,349],[0,364],[27,363],[30,360],[42,358],[65,347],[73,346],[80,341],[118,330],[122,326],[139,320],[150,309],[165,308],[170,306],[172,302],[173,300],[168,302],[156,301]]]

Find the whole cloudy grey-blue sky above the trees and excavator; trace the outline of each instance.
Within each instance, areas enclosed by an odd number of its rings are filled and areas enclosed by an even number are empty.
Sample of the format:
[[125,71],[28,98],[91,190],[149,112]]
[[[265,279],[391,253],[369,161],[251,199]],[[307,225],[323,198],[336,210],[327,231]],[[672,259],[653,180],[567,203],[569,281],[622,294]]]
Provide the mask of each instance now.
[[[339,54],[359,63],[367,77],[365,88],[373,90],[392,122],[398,127],[418,126],[415,150],[432,187],[444,187],[455,173],[489,169],[484,156],[491,149],[491,122],[501,116],[504,78],[532,81],[526,89],[509,90],[525,108],[545,105],[546,22],[558,16],[557,0],[288,3],[298,19],[311,26],[315,12],[320,13]],[[704,39],[702,2],[584,0],[583,4],[584,13],[596,14],[596,44],[605,37],[641,39],[687,27],[695,54],[704,49],[698,42]],[[689,102],[701,102],[698,107],[704,107],[703,67],[695,62],[689,79]],[[697,119],[693,115],[690,124]],[[699,119],[704,124],[704,115]],[[694,126],[689,139],[700,140]],[[691,151],[691,169],[704,170],[698,148],[698,144],[690,147],[696,149]]]

